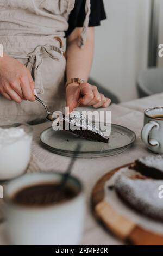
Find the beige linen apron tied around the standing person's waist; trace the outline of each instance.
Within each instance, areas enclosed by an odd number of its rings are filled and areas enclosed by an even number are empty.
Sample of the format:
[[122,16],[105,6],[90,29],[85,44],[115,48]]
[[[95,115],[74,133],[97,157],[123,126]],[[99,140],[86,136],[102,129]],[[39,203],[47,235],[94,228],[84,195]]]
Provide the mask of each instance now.
[[[60,110],[65,105],[64,36],[74,3],[75,0],[0,0],[0,43],[4,52],[32,72],[36,92],[51,111]],[[90,0],[86,0],[85,10],[79,47],[86,41]],[[56,37],[64,42],[64,49]],[[18,104],[0,95],[0,115],[1,118],[29,122],[45,118],[46,113],[39,102]]]

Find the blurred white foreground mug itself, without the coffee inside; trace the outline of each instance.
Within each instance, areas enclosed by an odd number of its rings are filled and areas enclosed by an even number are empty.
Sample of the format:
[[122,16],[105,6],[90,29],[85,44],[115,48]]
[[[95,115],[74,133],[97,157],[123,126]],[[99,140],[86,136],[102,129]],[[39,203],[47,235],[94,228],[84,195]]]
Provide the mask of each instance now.
[[24,187],[60,182],[62,174],[41,172],[25,174],[8,182],[4,199],[7,203],[7,235],[11,245],[78,245],[84,222],[84,193],[73,176],[68,184],[78,194],[63,203],[24,206],[12,202],[13,195]]

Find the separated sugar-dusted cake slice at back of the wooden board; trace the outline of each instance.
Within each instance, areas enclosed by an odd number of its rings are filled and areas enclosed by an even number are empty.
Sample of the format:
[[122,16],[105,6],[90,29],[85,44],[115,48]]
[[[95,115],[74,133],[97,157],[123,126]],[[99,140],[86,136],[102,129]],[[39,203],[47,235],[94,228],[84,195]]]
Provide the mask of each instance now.
[[163,156],[147,156],[137,159],[133,168],[149,178],[163,179]]

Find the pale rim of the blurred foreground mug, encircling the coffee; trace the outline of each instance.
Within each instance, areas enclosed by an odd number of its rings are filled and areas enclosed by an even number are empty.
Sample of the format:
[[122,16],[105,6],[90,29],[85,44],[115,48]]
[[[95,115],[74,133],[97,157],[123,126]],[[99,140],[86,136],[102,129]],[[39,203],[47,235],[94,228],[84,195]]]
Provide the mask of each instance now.
[[[26,179],[26,177],[29,177],[29,176],[35,176],[35,175],[39,175],[39,176],[50,176],[50,175],[53,175],[53,176],[63,176],[64,173],[60,173],[60,172],[54,172],[53,170],[52,171],[42,171],[40,173],[37,173],[37,172],[34,172],[34,173],[26,173],[24,175],[21,175],[21,176],[18,176],[10,181],[7,181],[7,184],[5,184],[5,189],[4,189],[4,201],[5,203],[7,203],[7,205],[9,206],[13,206],[13,207],[16,207],[16,208],[20,208],[20,209],[26,209],[26,210],[44,210],[44,209],[49,209],[49,208],[59,208],[61,206],[65,206],[65,205],[68,205],[70,204],[71,202],[73,202],[74,200],[76,200],[78,197],[80,197],[84,192],[84,188],[83,188],[83,184],[82,182],[76,178],[75,176],[71,175],[68,180],[72,180],[74,181],[77,186],[79,187],[79,192],[76,194],[76,196],[74,196],[73,198],[71,199],[68,199],[66,200],[65,202],[59,202],[57,204],[48,204],[48,205],[23,205],[23,204],[18,204],[18,203],[15,203],[12,201],[12,197],[14,196],[14,194],[16,194],[16,192],[22,190],[23,188],[25,187],[30,187],[30,186],[33,186],[35,184],[43,184],[43,181],[41,182],[37,182],[37,180],[33,180],[33,182],[31,182],[30,184],[26,185],[26,186],[18,186],[17,189],[15,189],[14,192],[12,192],[12,196],[9,195],[9,193],[7,193],[7,190],[8,190],[8,187],[10,185],[12,185],[14,182],[18,181],[18,180],[21,180],[21,179]],[[46,183],[46,181],[45,181]]]

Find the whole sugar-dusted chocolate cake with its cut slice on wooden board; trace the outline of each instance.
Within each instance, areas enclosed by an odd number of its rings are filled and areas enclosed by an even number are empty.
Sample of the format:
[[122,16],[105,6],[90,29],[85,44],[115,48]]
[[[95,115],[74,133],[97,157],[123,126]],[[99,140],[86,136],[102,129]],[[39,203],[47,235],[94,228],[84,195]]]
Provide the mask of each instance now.
[[[121,169],[120,169],[121,171]],[[143,215],[163,221],[163,203],[159,187],[163,185],[163,157],[137,159],[115,180],[118,196]]]

